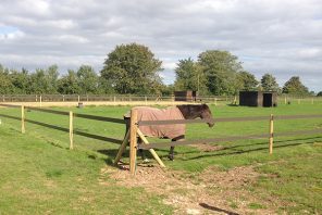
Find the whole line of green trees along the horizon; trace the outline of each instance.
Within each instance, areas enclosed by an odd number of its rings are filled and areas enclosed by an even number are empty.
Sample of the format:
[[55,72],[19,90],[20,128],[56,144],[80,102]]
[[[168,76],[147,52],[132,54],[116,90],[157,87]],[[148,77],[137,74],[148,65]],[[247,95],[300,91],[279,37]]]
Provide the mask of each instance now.
[[[196,61],[179,60],[173,85],[160,77],[162,62],[148,47],[120,45],[111,51],[97,73],[89,65],[59,74],[59,67],[29,72],[10,69],[0,64],[1,94],[171,94],[174,90],[197,90],[202,96],[234,96],[240,90],[277,91],[295,96],[313,94],[298,76],[290,77],[281,88],[276,78],[267,73],[260,80],[243,68],[237,56],[228,51],[207,50]],[[322,96],[319,92],[318,96]]]

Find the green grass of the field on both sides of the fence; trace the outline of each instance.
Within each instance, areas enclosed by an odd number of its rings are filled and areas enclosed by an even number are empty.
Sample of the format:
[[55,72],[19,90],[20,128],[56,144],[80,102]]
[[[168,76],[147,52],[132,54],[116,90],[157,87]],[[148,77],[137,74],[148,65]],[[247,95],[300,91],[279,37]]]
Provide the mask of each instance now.
[[[129,106],[86,106],[64,109],[77,113],[122,118]],[[275,109],[211,106],[214,117],[322,114],[322,104],[280,105]],[[20,132],[20,122],[5,117],[20,116],[18,109],[0,109],[0,214],[173,214],[175,204],[164,204],[164,195],[143,187],[117,184],[99,185],[100,170],[111,166],[117,144],[75,136],[75,150],[70,151],[69,134],[52,128],[26,124],[26,134]],[[69,118],[61,115],[26,112],[26,117],[67,128]],[[74,119],[75,130],[122,139],[124,125]],[[322,128],[322,118],[275,121],[275,131]],[[216,138],[267,134],[269,122],[218,123],[214,128],[187,125],[186,139]],[[151,142],[165,141],[150,139]],[[268,140],[218,142],[202,150],[177,147],[175,161],[166,160],[168,149],[158,154],[168,172],[179,172],[183,179],[194,185],[200,175],[215,167],[214,174],[251,167],[258,177],[243,187],[246,197],[222,197],[216,206],[237,213],[265,212],[287,214],[322,213],[322,134],[275,137],[274,153],[268,153]],[[127,161],[128,153],[123,161]],[[140,163],[141,161],[138,160]],[[106,176],[109,180],[109,175]],[[203,181],[205,182],[205,181]],[[227,181],[228,184],[230,181]],[[239,185],[239,184],[238,184]],[[215,181],[205,185],[209,195],[220,195],[222,188]],[[225,187],[224,187],[225,188]],[[230,188],[232,192],[239,186]],[[186,192],[176,189],[177,192]],[[237,192],[238,193],[238,192]],[[252,198],[255,197],[255,198]],[[244,203],[243,203],[244,201]],[[245,202],[246,205],[245,205]],[[215,206],[215,205],[214,205]],[[245,211],[245,207],[247,210]],[[215,207],[216,208],[216,207]],[[213,207],[202,212],[213,213]]]

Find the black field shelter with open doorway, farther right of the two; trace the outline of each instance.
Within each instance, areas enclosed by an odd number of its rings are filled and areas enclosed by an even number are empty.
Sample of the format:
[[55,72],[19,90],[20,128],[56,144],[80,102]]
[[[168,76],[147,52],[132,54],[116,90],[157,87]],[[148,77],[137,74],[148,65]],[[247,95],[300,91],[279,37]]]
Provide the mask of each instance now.
[[277,106],[277,92],[240,91],[242,106]]

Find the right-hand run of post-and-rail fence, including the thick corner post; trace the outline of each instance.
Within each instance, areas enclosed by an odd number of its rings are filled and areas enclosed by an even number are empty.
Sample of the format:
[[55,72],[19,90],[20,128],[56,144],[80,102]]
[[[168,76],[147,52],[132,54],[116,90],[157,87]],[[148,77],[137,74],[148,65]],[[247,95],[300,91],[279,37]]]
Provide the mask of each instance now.
[[[301,119],[301,118],[320,118],[322,114],[311,114],[311,115],[277,115],[274,116],[253,116],[253,117],[227,117],[227,118],[214,118],[214,123],[220,122],[251,122],[251,121],[268,121],[268,134],[260,135],[250,135],[250,136],[234,136],[234,137],[224,137],[224,138],[211,138],[211,139],[201,139],[201,140],[185,140],[185,141],[173,141],[173,142],[156,142],[149,143],[147,140],[144,141],[145,144],[137,144],[137,136],[141,137],[139,126],[152,126],[152,125],[173,125],[173,124],[193,124],[193,123],[209,123],[210,119],[174,119],[174,121],[137,121],[137,112],[132,111],[132,121],[131,121],[131,143],[129,143],[129,170],[132,174],[135,174],[136,168],[136,151],[138,149],[151,150],[151,149],[161,149],[175,146],[187,146],[187,144],[200,144],[200,143],[211,143],[211,142],[222,142],[222,141],[235,141],[235,140],[250,140],[250,139],[269,139],[269,153],[273,153],[273,142],[274,137],[276,136],[294,136],[294,135],[313,135],[322,134],[322,129],[312,129],[312,130],[296,130],[296,131],[284,131],[275,132],[274,131],[274,121],[282,119]],[[135,137],[133,137],[135,136]],[[156,157],[156,155],[153,155]],[[158,156],[156,157],[158,161]],[[160,162],[159,162],[160,163]],[[162,163],[161,163],[162,166]]]

